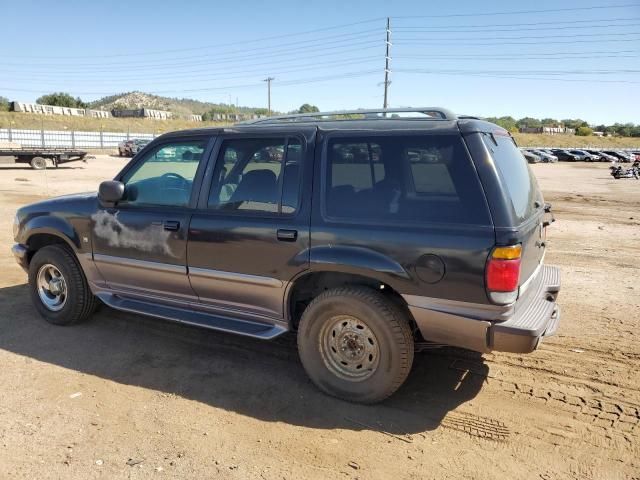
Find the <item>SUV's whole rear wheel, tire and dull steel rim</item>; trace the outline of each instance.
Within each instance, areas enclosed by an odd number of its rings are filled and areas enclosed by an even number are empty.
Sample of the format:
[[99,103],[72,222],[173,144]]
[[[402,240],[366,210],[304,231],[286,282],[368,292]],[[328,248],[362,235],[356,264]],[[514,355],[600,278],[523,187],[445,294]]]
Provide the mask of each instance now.
[[394,393],[413,363],[411,325],[375,290],[327,290],[306,308],[298,351],[311,380],[344,400],[376,403]]

